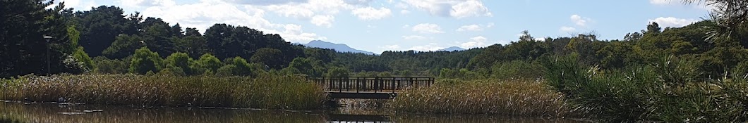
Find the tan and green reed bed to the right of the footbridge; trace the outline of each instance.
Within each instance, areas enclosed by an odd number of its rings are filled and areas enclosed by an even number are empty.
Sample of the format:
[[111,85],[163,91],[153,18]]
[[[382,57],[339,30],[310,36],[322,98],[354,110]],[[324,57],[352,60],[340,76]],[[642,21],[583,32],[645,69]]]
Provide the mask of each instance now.
[[405,89],[393,109],[414,113],[464,113],[557,117],[571,114],[563,96],[531,80],[438,81],[435,86]]

